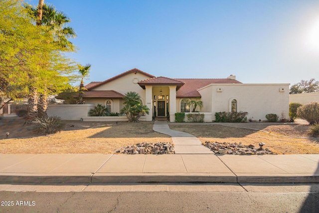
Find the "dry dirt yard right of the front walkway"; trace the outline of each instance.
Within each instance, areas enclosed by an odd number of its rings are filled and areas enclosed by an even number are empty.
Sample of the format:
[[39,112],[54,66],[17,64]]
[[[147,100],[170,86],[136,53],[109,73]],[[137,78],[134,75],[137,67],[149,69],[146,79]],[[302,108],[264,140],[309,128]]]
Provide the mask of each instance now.
[[[288,137],[309,137],[309,126],[305,124],[270,124],[270,123],[227,123],[213,125],[176,125],[169,127],[173,130],[190,133],[199,138],[201,142],[230,142],[259,147],[260,142],[277,154],[319,154],[319,138],[302,139]],[[257,130],[244,129],[253,128]],[[287,137],[285,137],[287,136]]]

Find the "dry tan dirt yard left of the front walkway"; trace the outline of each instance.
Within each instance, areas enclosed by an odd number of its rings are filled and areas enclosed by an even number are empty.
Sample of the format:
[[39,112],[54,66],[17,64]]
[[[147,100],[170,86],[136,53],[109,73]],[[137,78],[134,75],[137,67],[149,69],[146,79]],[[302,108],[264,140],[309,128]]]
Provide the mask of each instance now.
[[[113,153],[116,149],[142,142],[171,142],[153,131],[153,122],[66,122],[55,135],[39,136],[33,125],[20,118],[0,120],[0,153],[3,154],[84,154]],[[8,139],[6,132],[9,132]],[[20,137],[28,137],[21,139]],[[20,138],[20,139],[14,139]]]

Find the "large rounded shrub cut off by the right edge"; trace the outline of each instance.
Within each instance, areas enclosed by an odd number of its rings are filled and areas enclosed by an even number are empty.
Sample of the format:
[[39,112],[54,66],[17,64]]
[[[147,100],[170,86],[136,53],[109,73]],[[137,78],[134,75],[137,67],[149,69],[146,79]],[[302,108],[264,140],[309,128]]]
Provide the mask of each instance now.
[[297,116],[305,119],[311,125],[319,123],[319,102],[311,102],[301,106],[297,110]]

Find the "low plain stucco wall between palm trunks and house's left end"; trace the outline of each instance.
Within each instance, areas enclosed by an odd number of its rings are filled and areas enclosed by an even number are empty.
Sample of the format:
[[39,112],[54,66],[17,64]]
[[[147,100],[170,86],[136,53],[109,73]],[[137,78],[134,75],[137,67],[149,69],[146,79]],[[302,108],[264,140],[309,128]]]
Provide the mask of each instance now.
[[58,116],[62,120],[79,121],[82,117],[88,116],[90,109],[93,109],[93,104],[51,104],[48,105],[48,116]]

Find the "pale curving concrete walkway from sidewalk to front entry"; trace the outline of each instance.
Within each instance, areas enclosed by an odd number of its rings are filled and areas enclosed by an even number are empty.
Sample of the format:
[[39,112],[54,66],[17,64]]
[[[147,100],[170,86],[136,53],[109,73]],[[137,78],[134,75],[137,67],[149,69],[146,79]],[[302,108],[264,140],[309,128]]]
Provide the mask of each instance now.
[[195,136],[169,129],[166,121],[155,121],[153,130],[171,137],[176,154],[214,154]]

